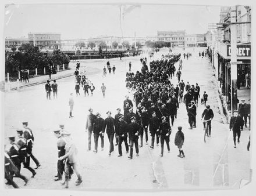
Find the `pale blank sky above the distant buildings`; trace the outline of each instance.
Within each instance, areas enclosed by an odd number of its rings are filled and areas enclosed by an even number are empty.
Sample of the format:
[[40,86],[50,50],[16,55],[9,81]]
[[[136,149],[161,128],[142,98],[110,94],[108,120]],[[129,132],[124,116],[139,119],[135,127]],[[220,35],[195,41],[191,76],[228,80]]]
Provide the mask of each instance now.
[[218,6],[140,5],[120,19],[119,5],[8,5],[5,37],[28,37],[28,32],[59,32],[61,39],[93,38],[100,35],[146,37],[159,30],[186,30],[200,34],[208,23],[219,22]]

